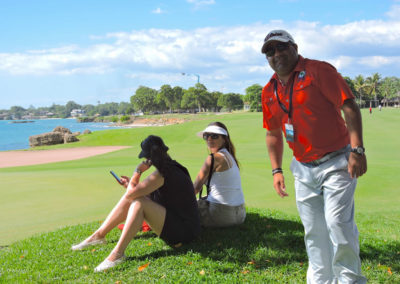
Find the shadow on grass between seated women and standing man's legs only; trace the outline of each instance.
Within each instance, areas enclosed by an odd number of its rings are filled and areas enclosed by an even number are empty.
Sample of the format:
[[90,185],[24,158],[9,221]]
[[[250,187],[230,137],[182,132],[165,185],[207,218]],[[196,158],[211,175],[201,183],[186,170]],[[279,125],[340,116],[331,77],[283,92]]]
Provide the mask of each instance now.
[[307,255],[303,226],[297,221],[276,219],[248,212],[246,221],[228,228],[204,228],[195,241],[167,251],[156,251],[128,260],[145,260],[200,253],[204,258],[233,263],[257,263],[257,268],[304,263]]

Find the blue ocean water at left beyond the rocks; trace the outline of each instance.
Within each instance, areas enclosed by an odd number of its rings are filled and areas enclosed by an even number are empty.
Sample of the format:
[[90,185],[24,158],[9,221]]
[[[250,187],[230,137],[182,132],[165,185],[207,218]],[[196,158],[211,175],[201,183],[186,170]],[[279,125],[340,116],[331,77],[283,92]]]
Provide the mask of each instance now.
[[71,132],[85,129],[99,131],[120,128],[111,123],[79,123],[76,119],[32,119],[29,123],[13,123],[15,120],[0,120],[0,151],[29,148],[29,136],[50,132],[57,126],[63,126]]

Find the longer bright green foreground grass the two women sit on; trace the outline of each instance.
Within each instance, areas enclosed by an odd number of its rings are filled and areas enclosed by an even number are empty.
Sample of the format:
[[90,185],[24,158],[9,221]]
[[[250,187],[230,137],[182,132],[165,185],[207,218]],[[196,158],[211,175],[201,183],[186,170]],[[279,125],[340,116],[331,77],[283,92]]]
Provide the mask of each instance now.
[[[98,226],[99,222],[69,226],[4,248],[0,282],[304,283],[307,256],[302,225],[297,217],[279,211],[248,209],[243,225],[206,229],[199,239],[180,248],[169,247],[151,232],[139,233],[126,251],[124,264],[93,273],[120,231],[111,231],[104,246],[83,251],[71,251],[70,246]],[[399,243],[374,234],[361,239],[363,271],[370,283],[398,283]]]

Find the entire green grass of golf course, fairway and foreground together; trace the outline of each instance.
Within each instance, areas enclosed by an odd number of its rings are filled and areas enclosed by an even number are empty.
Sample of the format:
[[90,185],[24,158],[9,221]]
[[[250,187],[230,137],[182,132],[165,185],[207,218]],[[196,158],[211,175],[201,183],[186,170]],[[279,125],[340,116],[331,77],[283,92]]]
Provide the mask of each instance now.
[[[368,171],[355,193],[362,270],[370,283],[400,283],[400,109],[362,110],[362,115]],[[208,154],[196,133],[212,121],[226,124],[236,147],[246,222],[206,229],[178,248],[151,232],[139,233],[126,251],[128,261],[93,273],[120,231],[114,229],[105,246],[81,252],[70,247],[93,232],[123,194],[109,171],[130,176],[140,162],[140,142],[154,134],[194,179]],[[282,199],[272,186],[261,113],[198,114],[181,124],[97,131],[79,139],[45,148],[129,147],[85,159],[0,169],[0,283],[305,283],[307,255],[289,170],[292,153],[285,145],[289,196]]]

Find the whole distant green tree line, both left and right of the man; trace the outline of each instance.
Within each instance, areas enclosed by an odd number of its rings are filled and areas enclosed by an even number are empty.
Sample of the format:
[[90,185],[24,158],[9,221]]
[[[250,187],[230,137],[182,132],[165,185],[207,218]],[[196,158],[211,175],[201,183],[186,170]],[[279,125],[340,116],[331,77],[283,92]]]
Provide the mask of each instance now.
[[[361,107],[390,105],[399,101],[400,79],[397,77],[382,78],[378,73],[370,77],[362,75],[354,79],[344,77],[356,96]],[[97,105],[80,105],[74,101],[66,105],[53,104],[50,107],[12,106],[9,110],[0,110],[0,119],[21,119],[24,117],[71,117],[73,110],[82,110],[84,116],[133,115],[172,113],[172,112],[219,112],[243,109],[247,105],[250,111],[261,111],[262,86],[254,84],[246,88],[245,94],[210,92],[206,86],[197,83],[184,89],[179,86],[162,85],[159,90],[140,86],[130,97],[130,102],[98,103]]]

